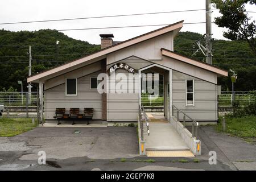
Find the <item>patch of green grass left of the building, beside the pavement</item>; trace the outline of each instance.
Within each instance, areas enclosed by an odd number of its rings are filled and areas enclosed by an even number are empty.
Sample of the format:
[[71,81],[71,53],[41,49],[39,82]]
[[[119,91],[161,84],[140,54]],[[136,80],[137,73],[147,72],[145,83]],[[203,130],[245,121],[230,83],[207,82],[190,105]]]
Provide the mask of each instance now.
[[31,118],[0,118],[0,137],[13,137],[15,135],[32,130]]

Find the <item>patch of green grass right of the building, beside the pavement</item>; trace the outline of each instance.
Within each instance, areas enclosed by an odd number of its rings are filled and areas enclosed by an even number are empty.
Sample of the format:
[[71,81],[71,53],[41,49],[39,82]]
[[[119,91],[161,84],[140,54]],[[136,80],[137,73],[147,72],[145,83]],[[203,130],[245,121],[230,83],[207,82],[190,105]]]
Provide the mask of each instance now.
[[[241,137],[248,141],[256,140],[256,116],[247,115],[243,117],[232,117],[226,116],[226,131],[232,136]],[[222,118],[220,118],[220,123],[216,126],[216,130],[222,131]]]

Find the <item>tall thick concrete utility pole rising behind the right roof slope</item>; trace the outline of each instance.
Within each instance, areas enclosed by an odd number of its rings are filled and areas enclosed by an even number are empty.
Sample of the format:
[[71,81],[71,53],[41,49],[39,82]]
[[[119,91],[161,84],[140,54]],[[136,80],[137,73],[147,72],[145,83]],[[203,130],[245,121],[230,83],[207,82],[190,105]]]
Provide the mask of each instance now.
[[205,10],[206,10],[206,62],[212,64],[212,5],[210,0],[205,0]]

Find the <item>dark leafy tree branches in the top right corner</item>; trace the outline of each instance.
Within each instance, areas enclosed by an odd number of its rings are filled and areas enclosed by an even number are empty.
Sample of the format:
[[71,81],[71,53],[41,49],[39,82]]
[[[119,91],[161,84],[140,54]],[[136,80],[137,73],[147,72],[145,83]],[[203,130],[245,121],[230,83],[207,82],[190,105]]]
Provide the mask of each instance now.
[[222,16],[215,18],[218,27],[228,28],[223,36],[230,40],[246,40],[256,54],[256,24],[246,13],[245,5],[256,5],[256,0],[212,0]]

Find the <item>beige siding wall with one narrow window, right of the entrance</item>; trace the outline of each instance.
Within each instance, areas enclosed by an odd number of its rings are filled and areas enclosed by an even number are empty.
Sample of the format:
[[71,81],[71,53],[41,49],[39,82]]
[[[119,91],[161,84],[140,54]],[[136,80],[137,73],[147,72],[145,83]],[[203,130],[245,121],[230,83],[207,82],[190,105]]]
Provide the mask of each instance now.
[[[195,81],[195,106],[185,106],[185,80]],[[217,85],[198,78],[172,71],[173,105],[184,110],[197,121],[217,120]],[[176,116],[176,112],[174,112]],[[180,114],[179,119],[183,119]]]

